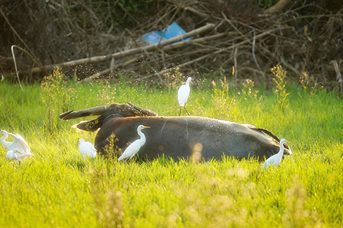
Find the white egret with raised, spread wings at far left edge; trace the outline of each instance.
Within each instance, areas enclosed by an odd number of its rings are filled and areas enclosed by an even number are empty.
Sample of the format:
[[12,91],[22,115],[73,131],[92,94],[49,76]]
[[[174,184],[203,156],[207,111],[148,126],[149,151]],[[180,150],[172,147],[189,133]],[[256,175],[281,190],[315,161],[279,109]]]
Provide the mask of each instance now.
[[[1,137],[1,143],[3,144],[3,146],[5,146],[9,151],[13,151],[14,149],[20,151],[20,153],[18,154],[19,160],[34,155],[31,153],[31,149],[29,149],[29,145],[27,144],[25,139],[23,139],[23,137],[21,137],[19,134],[15,135],[12,133],[8,133],[5,130],[0,131],[0,134],[3,134],[3,136]],[[13,138],[13,142],[5,141],[8,136],[11,136]]]

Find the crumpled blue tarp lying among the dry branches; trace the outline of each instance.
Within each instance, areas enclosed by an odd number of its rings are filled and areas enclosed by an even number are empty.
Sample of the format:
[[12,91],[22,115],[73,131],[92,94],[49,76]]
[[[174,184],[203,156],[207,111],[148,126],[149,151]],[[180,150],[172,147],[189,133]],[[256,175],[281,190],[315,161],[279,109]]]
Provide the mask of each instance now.
[[[163,29],[162,31],[150,31],[147,34],[144,34],[143,40],[146,41],[149,45],[156,44],[160,41],[160,38],[163,34],[163,31],[165,31],[165,29]],[[161,41],[168,40],[170,38],[180,36],[183,34],[186,34],[186,31],[183,30],[182,27],[180,27],[180,25],[173,22],[173,23],[171,23],[171,25],[169,25],[167,27],[167,30],[165,31],[165,34],[163,35],[163,38]],[[192,37],[187,38],[183,41],[191,40],[191,38]],[[182,42],[182,41],[180,41],[180,42]]]

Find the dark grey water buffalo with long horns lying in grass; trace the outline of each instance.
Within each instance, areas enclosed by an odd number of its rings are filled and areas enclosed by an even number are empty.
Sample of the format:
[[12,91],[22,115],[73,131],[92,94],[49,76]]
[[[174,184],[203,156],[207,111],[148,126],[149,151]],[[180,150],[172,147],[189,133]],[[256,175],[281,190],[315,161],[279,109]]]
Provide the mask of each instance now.
[[[108,149],[126,149],[139,138],[139,125],[150,127],[144,132],[146,142],[138,153],[143,160],[161,155],[178,160],[196,153],[204,160],[221,159],[226,155],[263,161],[280,150],[279,138],[266,129],[198,116],[157,116],[151,110],[131,103],[69,111],[59,117],[69,120],[91,115],[99,117],[76,127],[85,131],[99,129],[95,138],[95,149],[99,154],[108,153]],[[112,144],[111,136],[114,139]],[[287,145],[284,147],[284,154],[292,154]]]

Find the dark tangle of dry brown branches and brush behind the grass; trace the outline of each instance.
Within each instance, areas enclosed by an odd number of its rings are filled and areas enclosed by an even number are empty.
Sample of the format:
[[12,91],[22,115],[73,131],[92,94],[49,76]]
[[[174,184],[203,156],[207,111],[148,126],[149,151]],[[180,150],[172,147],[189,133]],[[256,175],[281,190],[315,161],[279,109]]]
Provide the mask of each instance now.
[[[21,80],[32,82],[51,74],[25,73],[38,66],[33,62],[36,59],[46,65],[108,55],[140,47],[143,34],[161,31],[173,21],[185,31],[213,23],[213,31],[195,38],[224,34],[222,38],[169,51],[143,52],[141,57],[69,66],[62,71],[83,79],[109,69],[102,79],[117,81],[122,72],[166,85],[168,73],[174,73],[179,64],[189,63],[178,71],[193,76],[201,73],[196,77],[233,77],[237,84],[245,79],[269,84],[269,69],[281,64],[294,81],[307,72],[320,85],[341,89],[343,79],[338,72],[342,72],[343,59],[342,1],[294,0],[277,15],[265,14],[263,10],[276,2],[5,0],[0,4],[0,71],[6,78],[15,77],[12,45],[32,55],[14,49]],[[198,60],[202,57],[206,58]],[[113,65],[130,60],[132,64],[111,70]],[[338,62],[338,71],[333,61]],[[235,75],[231,74],[233,66]],[[166,69],[168,73],[156,74]]]

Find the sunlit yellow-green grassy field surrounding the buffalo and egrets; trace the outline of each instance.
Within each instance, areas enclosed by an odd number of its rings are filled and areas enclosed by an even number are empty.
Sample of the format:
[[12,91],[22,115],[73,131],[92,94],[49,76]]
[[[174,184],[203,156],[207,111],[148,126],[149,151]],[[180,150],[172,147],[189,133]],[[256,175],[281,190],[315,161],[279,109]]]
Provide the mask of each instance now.
[[[84,159],[78,139],[95,134],[59,121],[67,110],[130,101],[160,116],[178,114],[179,80],[145,84],[0,83],[0,128],[19,133],[34,157],[5,159],[0,146],[0,227],[341,227],[343,225],[343,103],[338,92],[286,84],[279,91],[247,82],[198,81],[187,109],[272,131],[293,155],[263,170],[254,160],[207,163],[117,163]],[[182,79],[185,81],[185,79]],[[278,82],[278,79],[276,79]],[[229,85],[229,86],[228,86]],[[182,112],[185,114],[185,112]]]

